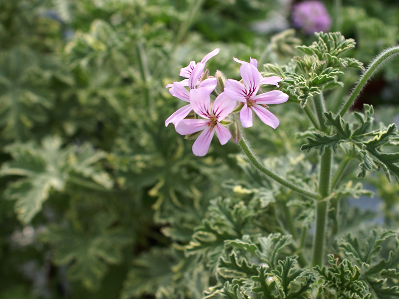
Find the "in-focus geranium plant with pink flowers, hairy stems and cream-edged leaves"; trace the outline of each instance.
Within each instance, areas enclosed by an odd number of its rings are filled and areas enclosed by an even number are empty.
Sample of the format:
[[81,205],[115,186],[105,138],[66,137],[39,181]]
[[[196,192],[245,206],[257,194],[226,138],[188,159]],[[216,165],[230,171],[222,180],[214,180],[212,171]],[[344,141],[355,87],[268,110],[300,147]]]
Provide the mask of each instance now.
[[[190,104],[175,112],[166,125],[173,122],[176,131],[187,135],[189,139],[197,137],[195,133],[200,132],[193,144],[195,155],[204,156],[216,134],[221,145],[229,140],[238,143],[252,167],[294,191],[293,194],[283,193],[275,199],[285,205],[291,236],[279,233],[263,237],[245,234],[242,229],[251,222],[248,217],[255,217],[256,213],[248,213],[244,221],[236,214],[238,211],[235,208],[234,212],[228,212],[231,218],[226,216],[226,219],[234,225],[239,223],[240,229],[236,230],[239,238],[230,240],[231,237],[227,237],[223,248],[217,254],[213,252],[213,256],[204,252],[200,254],[216,267],[217,282],[209,289],[206,298],[399,298],[397,233],[372,230],[364,244],[347,234],[335,245],[336,250],[342,251],[341,257],[336,252],[328,252],[325,246],[333,231],[333,236],[339,234],[340,226],[339,222],[329,223],[329,210],[338,217],[341,197],[371,194],[363,189],[361,183],[353,185],[352,181],[341,180],[351,159],[359,161],[359,178],[365,177],[367,172],[382,169],[389,181],[394,177],[399,182],[399,152],[395,147],[398,141],[397,126],[376,127],[373,107],[370,105],[364,106],[363,113],[354,112],[353,118],[345,118],[376,69],[397,55],[399,47],[385,50],[364,69],[358,60],[344,56],[346,51],[355,47],[353,39],[345,39],[340,32],[319,32],[316,38],[310,46],[298,46],[303,56],[294,57],[287,65],[265,64],[263,73],[259,72],[256,59],[250,58],[246,62],[233,58],[241,64],[241,81],[226,79],[220,70],[216,71],[215,77],[208,76],[209,71],[204,72],[206,60],[219,52],[219,49],[215,49],[205,55],[201,62],[192,61],[189,66],[182,68],[180,74],[188,80],[167,86],[173,96]],[[348,67],[363,70],[363,74],[340,110],[329,111],[324,94],[329,89],[342,88],[343,83],[339,78]],[[267,91],[262,90],[265,85]],[[279,89],[270,90],[270,85]],[[189,86],[190,91],[185,86]],[[211,97],[214,98],[213,102]],[[253,126],[253,113],[262,123],[278,130],[279,120],[269,111],[268,105],[287,101],[297,103],[309,120],[308,130],[299,134],[303,140],[301,150],[306,153],[317,151],[319,154],[317,163],[312,167],[313,179],[310,181],[298,179],[299,173],[295,173],[294,178],[278,175],[278,171],[256,157],[256,149],[252,149],[250,140],[244,137],[244,130]],[[284,107],[280,112],[289,109],[288,105]],[[190,114],[192,110],[194,113]],[[271,129],[266,127],[264,130]],[[387,151],[389,146],[394,146],[393,150]],[[302,175],[304,177],[306,173]],[[314,222],[312,218],[313,223],[310,224],[314,231],[310,261],[304,250],[306,230],[302,228],[302,234],[305,235],[299,239],[297,228],[290,219],[289,206],[294,201],[299,205],[299,210],[306,209],[310,213],[309,205],[310,209],[314,209]],[[219,203],[223,204],[222,199],[219,199]],[[206,232],[216,239],[223,238],[223,230],[218,231],[216,224],[216,227],[210,223],[207,225],[199,228],[197,237],[194,235],[195,241],[188,246],[189,255],[195,248],[206,247],[206,240],[212,243],[212,239],[208,239],[210,236],[205,237]],[[267,223],[264,225],[267,226]],[[254,227],[256,225],[252,223],[252,229]],[[390,238],[396,240],[394,247],[385,250],[388,255],[379,260],[383,249],[380,244]],[[328,240],[328,243],[331,241]],[[279,255],[288,245],[291,246],[292,255]],[[194,252],[199,254],[196,250]],[[327,258],[329,266],[326,268]]]

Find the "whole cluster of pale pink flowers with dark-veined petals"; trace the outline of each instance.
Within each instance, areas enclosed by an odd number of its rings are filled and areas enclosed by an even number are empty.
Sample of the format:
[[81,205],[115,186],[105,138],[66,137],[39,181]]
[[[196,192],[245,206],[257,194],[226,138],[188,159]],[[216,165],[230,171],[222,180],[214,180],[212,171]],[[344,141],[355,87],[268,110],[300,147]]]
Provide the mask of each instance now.
[[[220,87],[221,92],[217,94],[217,79],[213,76],[208,77],[204,71],[206,61],[217,53],[218,48],[206,54],[200,62],[191,61],[180,71],[180,76],[186,79],[166,86],[170,88],[171,95],[189,104],[173,113],[165,121],[165,126],[173,123],[181,135],[201,132],[193,145],[193,153],[198,156],[207,153],[215,133],[221,145],[231,139],[231,133],[225,124],[231,123],[228,117],[233,112],[240,111],[239,119],[244,128],[252,127],[253,111],[264,124],[276,129],[279,120],[267,110],[267,104],[280,104],[288,100],[288,95],[279,90],[259,93],[261,85],[278,87],[278,82],[282,79],[277,76],[263,77],[258,71],[257,60],[253,58],[250,58],[250,62],[233,58],[241,64],[242,82],[233,79],[224,82],[223,79],[224,86]],[[211,95],[215,95],[212,103]],[[186,119],[193,110],[200,118],[196,116]]]

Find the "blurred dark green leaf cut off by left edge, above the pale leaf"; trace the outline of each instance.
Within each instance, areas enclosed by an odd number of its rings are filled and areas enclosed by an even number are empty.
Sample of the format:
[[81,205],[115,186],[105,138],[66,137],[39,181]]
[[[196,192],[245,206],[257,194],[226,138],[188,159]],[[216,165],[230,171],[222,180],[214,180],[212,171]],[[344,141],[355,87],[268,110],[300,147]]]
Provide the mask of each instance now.
[[53,107],[51,74],[27,47],[0,52],[0,128],[3,137],[26,140]]

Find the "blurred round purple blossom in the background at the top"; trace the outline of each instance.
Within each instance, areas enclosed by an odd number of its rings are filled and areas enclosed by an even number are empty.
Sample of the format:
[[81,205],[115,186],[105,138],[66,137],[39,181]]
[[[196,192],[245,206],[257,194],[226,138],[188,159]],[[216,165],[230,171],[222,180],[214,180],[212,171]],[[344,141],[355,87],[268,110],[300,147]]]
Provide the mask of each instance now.
[[292,21],[295,27],[302,28],[307,34],[324,31],[331,26],[331,17],[326,6],[321,1],[303,1],[294,5],[292,9]]

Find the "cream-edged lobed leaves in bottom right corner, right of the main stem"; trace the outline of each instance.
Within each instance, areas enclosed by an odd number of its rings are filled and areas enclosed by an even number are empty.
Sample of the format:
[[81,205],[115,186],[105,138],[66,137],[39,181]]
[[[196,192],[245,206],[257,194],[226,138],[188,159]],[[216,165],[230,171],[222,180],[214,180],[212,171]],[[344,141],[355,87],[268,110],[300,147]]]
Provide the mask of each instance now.
[[[379,255],[387,246],[387,240],[395,238],[394,249],[389,251],[387,259],[379,261]],[[339,247],[344,255],[353,259],[339,262],[329,255],[330,268],[313,268],[323,279],[324,293],[334,294],[336,298],[399,298],[399,257],[398,236],[393,231],[372,230],[364,242],[346,235]],[[379,261],[379,262],[378,262]]]

